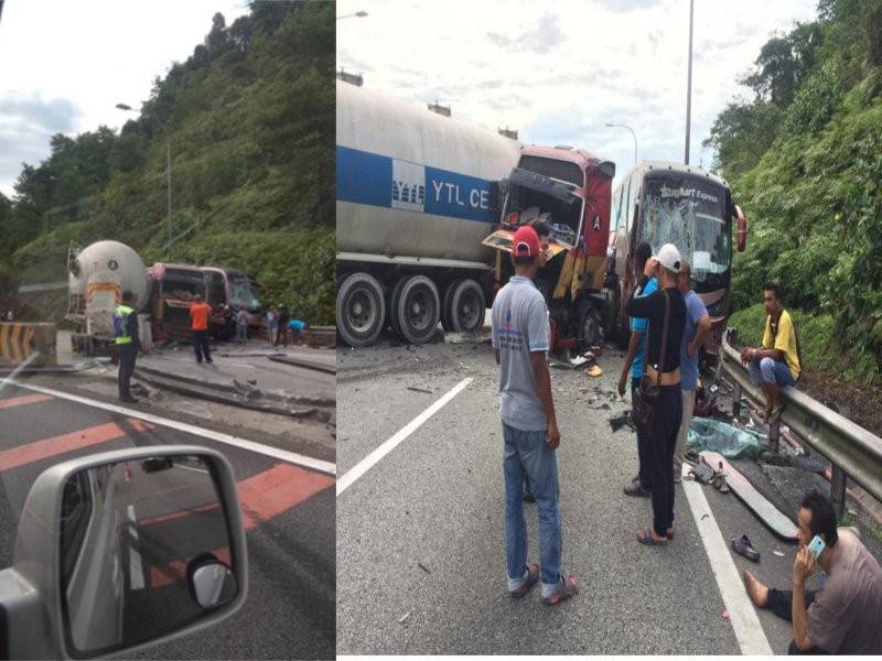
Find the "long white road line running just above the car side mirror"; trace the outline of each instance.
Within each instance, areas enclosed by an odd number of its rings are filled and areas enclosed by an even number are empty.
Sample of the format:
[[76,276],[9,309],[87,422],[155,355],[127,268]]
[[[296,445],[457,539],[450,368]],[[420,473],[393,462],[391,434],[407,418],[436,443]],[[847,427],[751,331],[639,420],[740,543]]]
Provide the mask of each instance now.
[[294,452],[288,452],[287,449],[279,449],[278,447],[263,445],[262,443],[255,443],[254,441],[248,441],[247,438],[239,438],[238,436],[224,434],[223,432],[204,430],[196,425],[187,424],[185,422],[180,422],[178,420],[170,420],[168,418],[162,418],[160,415],[153,415],[152,413],[144,413],[142,411],[137,411],[136,409],[127,409],[126,407],[118,407],[117,404],[108,404],[106,402],[99,402],[97,400],[79,397],[78,394],[71,394],[68,392],[63,392],[61,390],[43,388],[42,386],[31,386],[28,383],[21,383],[19,381],[10,379],[0,379],[0,382],[9,383],[11,386],[15,386],[17,388],[22,388],[24,390],[31,390],[33,392],[42,392],[43,394],[51,394],[52,397],[56,397],[58,399],[65,399],[72,402],[77,402],[79,404],[85,404],[87,407],[104,409],[105,411],[110,411],[111,413],[119,413],[120,415],[137,418],[138,420],[143,420],[144,422],[150,422],[153,424],[171,427],[173,430],[178,430],[179,432],[184,432],[187,434],[193,434],[194,436],[201,436],[202,438],[208,438],[209,441],[215,441],[216,443],[233,445],[234,447],[239,447],[241,449],[247,449],[250,452],[262,454],[268,457],[281,459],[283,462],[288,462],[289,464],[295,464],[298,466],[303,466],[304,468],[311,468],[312,470],[318,470],[320,473],[325,473],[327,475],[335,476],[337,474],[336,465],[331,462],[314,459],[312,457],[297,454]]

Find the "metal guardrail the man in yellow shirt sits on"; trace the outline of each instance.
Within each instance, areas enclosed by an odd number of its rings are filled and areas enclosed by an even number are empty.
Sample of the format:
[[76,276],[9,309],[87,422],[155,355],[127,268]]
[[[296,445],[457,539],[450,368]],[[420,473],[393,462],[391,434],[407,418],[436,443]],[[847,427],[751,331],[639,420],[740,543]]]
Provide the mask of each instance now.
[[[735,386],[733,405],[740,402],[741,392],[764,403],[762,391],[751,382],[739,351],[729,344],[727,335],[723,334],[722,342],[722,371]],[[781,389],[781,399],[784,403],[781,424],[790,427],[832,464],[830,496],[837,513],[841,517],[845,510],[847,478],[882,501],[882,438],[789,386]],[[778,424],[770,427],[768,436],[772,448],[777,449]]]

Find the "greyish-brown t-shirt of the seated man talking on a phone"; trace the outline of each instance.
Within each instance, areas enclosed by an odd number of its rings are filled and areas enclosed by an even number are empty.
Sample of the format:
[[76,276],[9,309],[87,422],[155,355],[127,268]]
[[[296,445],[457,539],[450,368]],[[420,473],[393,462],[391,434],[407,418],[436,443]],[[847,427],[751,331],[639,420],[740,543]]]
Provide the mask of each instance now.
[[831,654],[882,654],[882,567],[846,528],[830,577],[808,607],[808,638]]

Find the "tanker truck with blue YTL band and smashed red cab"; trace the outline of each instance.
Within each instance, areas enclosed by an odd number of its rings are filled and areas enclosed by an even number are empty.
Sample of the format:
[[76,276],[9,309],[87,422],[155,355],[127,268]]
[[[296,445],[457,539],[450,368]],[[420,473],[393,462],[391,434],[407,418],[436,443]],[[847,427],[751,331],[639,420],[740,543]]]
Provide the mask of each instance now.
[[412,344],[439,321],[481,328],[510,275],[513,230],[539,217],[555,229],[540,281],[551,283],[557,346],[599,342],[603,301],[582,284],[594,272],[602,284],[613,163],[523,145],[343,82],[336,93],[336,323],[346,344],[367,346],[386,326]]

